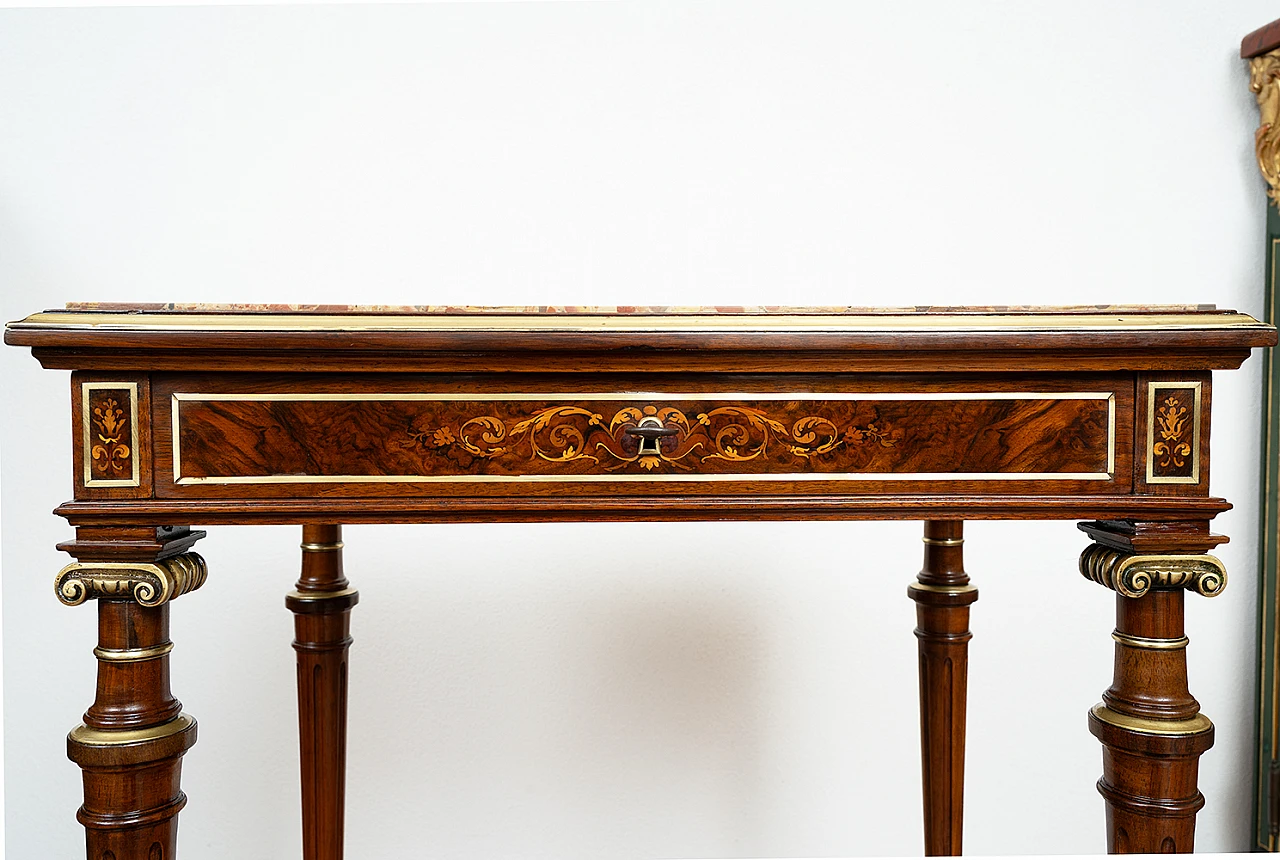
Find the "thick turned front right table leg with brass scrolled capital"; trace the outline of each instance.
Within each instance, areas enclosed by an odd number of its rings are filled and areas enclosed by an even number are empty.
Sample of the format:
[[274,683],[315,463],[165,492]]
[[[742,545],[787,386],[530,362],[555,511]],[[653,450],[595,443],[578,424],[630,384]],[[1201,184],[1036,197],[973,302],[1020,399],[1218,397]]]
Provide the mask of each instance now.
[[1199,756],[1213,745],[1213,724],[1187,687],[1183,601],[1188,589],[1219,594],[1226,575],[1212,555],[1107,544],[1080,555],[1080,572],[1117,593],[1115,676],[1089,712],[1089,731],[1102,741],[1107,851],[1190,852],[1204,805],[1196,786]]

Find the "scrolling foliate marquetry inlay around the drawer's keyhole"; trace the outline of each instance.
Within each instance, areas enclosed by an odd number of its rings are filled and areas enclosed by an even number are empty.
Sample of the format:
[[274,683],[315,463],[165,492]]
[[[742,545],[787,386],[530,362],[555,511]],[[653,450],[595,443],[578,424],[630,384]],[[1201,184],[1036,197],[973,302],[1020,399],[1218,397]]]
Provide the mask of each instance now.
[[[768,454],[771,444],[803,462],[842,445],[892,448],[901,435],[874,422],[841,427],[818,415],[787,424],[763,410],[745,406],[722,406],[692,418],[672,406],[626,407],[608,421],[600,412],[579,406],[552,406],[515,422],[481,415],[457,427],[411,427],[407,434],[431,456],[448,456],[451,449],[458,448],[484,459],[549,463],[581,459],[607,472],[631,465],[646,471],[664,467],[691,471],[710,461],[745,463]],[[644,444],[636,434],[645,425],[664,435]]]

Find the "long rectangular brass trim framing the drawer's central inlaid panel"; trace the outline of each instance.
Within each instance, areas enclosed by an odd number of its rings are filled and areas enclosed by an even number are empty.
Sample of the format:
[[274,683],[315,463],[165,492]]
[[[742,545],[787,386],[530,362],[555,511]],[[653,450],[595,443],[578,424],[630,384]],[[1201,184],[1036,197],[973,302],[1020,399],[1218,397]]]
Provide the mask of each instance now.
[[[206,477],[182,476],[179,445],[179,408],[183,401],[200,402],[255,402],[255,401],[1106,401],[1107,471],[1105,472],[785,472],[785,474],[732,474],[732,475],[229,475]],[[256,394],[205,394],[174,392],[170,395],[173,418],[173,482],[196,484],[504,484],[504,482],[593,482],[593,481],[1110,481],[1115,477],[1116,431],[1114,392],[924,392],[902,393],[754,393],[754,392],[582,392],[582,393],[463,393],[428,394],[394,393],[256,393]]]

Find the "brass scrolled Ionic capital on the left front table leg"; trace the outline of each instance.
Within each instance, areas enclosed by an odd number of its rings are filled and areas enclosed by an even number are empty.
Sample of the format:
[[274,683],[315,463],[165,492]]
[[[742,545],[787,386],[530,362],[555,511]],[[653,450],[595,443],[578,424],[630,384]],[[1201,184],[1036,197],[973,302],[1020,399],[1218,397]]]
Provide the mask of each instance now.
[[136,600],[143,607],[159,607],[178,595],[195,591],[207,576],[205,559],[183,553],[152,563],[76,562],[58,572],[54,589],[68,607],[86,600]]

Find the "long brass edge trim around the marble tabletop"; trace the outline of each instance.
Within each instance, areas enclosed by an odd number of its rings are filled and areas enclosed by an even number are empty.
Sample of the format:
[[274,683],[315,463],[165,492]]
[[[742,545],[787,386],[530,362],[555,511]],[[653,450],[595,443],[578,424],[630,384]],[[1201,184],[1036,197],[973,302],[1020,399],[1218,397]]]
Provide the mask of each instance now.
[[101,331],[1185,331],[1263,328],[1247,314],[32,314],[9,329]]

